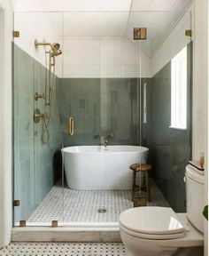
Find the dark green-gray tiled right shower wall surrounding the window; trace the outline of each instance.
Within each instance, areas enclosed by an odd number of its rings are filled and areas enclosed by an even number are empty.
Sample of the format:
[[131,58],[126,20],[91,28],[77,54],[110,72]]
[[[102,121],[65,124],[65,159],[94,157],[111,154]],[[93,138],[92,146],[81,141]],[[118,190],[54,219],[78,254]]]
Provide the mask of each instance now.
[[[169,128],[171,124],[171,62],[151,78],[148,85],[148,122],[143,124],[143,143],[150,148],[154,179],[176,212],[185,212],[187,161],[191,157],[191,84],[188,45],[188,120],[187,130]],[[145,134],[145,135],[144,135]]]

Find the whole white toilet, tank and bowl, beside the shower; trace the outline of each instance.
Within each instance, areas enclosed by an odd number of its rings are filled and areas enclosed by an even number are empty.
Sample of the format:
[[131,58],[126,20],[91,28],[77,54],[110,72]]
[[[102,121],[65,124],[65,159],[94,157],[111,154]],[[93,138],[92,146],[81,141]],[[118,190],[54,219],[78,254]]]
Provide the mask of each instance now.
[[169,207],[137,207],[120,214],[120,236],[132,255],[203,255],[204,175],[185,172],[187,212]]

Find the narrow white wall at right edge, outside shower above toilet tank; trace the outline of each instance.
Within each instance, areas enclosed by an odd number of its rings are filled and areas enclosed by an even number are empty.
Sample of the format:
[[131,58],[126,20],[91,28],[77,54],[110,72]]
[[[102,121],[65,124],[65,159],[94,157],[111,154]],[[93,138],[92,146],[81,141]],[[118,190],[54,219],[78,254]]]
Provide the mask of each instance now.
[[[205,151],[205,204],[208,204],[208,1],[195,1],[193,157]],[[208,255],[208,221],[205,220],[205,256]]]

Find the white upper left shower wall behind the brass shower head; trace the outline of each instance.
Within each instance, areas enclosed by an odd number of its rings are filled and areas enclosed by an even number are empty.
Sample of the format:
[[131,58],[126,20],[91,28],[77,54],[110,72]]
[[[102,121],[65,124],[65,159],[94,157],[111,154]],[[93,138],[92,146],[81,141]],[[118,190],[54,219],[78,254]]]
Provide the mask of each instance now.
[[[57,26],[53,26],[57,24]],[[14,30],[20,32],[14,43],[27,52],[45,67],[49,67],[48,54],[50,46],[39,46],[35,49],[35,39],[39,42],[59,43],[58,33],[61,31],[62,16],[60,13],[14,12]],[[62,46],[62,45],[61,45]],[[56,75],[61,76],[61,56],[56,58]]]

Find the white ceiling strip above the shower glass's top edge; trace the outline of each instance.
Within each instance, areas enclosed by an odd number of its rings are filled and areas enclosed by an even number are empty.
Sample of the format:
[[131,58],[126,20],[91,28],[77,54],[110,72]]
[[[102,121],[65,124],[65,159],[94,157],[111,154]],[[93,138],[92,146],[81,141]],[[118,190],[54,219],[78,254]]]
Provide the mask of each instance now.
[[182,9],[191,0],[12,0],[15,12],[129,12]]

